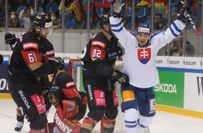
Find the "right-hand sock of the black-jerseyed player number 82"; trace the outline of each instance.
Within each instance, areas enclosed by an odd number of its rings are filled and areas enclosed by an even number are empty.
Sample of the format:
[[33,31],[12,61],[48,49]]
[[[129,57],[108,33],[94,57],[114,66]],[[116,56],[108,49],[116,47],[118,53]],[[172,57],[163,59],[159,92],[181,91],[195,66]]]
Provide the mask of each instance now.
[[115,127],[115,120],[110,120],[107,118],[102,119],[102,125],[104,133],[113,133]]

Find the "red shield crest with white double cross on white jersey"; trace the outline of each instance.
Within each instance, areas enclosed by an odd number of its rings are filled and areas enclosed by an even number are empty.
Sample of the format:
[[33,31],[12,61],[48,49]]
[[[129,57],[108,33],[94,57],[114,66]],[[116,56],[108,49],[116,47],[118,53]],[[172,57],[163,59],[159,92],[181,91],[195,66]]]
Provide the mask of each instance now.
[[146,64],[151,58],[151,48],[138,48],[137,54],[138,54],[138,60],[142,64]]

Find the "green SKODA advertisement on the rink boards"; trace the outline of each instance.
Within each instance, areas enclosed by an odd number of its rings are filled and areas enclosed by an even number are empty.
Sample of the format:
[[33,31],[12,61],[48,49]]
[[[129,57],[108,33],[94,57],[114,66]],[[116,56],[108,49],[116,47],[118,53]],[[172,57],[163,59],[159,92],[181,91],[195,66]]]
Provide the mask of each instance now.
[[184,72],[159,71],[160,84],[154,87],[158,104],[183,108]]

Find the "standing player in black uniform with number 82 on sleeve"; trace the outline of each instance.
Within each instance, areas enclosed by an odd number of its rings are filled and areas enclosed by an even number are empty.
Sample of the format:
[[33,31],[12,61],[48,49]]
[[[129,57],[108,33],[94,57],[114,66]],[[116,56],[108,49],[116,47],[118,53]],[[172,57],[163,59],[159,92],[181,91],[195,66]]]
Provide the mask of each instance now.
[[91,133],[100,120],[103,121],[105,133],[113,132],[118,114],[118,97],[112,79],[118,75],[118,79],[125,77],[119,71],[114,71],[115,61],[122,56],[122,49],[111,32],[109,15],[100,18],[100,25],[101,31],[88,42],[83,51],[83,83],[89,112],[83,120],[81,133]]

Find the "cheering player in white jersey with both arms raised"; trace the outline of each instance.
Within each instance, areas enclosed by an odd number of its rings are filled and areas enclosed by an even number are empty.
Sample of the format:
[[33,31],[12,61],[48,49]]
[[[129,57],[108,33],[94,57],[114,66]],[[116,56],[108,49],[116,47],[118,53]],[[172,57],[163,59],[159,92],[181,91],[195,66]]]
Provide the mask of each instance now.
[[121,0],[114,0],[112,7],[112,31],[125,51],[128,51],[124,57],[124,73],[129,76],[129,85],[122,86],[121,105],[125,132],[142,133],[152,123],[156,112],[153,86],[159,83],[159,77],[155,57],[160,48],[170,43],[184,29],[187,10],[182,7],[177,19],[165,31],[154,35],[149,24],[141,23],[135,37],[123,27],[124,4]]

